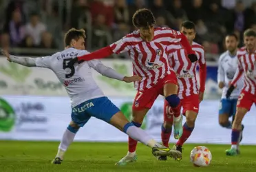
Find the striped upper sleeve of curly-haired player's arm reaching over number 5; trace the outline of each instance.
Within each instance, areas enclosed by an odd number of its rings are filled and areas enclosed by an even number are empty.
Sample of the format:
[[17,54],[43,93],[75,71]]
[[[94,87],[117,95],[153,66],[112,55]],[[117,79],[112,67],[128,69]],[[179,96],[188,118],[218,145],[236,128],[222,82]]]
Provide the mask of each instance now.
[[119,41],[112,43],[110,45],[110,48],[114,54],[128,52],[131,49],[132,42],[134,42],[134,41],[135,41],[135,39],[133,37],[124,36]]

